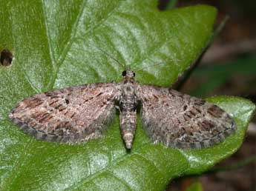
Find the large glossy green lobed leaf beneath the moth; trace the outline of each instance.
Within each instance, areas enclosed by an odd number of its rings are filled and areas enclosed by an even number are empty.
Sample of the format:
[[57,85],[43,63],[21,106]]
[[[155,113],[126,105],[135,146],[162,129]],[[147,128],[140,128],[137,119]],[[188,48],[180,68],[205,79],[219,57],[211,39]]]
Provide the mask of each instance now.
[[8,120],[19,100],[36,93],[120,81],[124,68],[111,57],[131,65],[141,83],[171,85],[211,37],[216,10],[198,5],[159,12],[156,5],[1,1],[0,50],[14,55],[10,67],[0,66],[1,190],[164,190],[171,178],[203,172],[240,147],[255,110],[243,98],[209,99],[234,116],[238,130],[204,150],[151,144],[140,116],[131,152],[117,115],[105,138],[79,145],[37,141]]

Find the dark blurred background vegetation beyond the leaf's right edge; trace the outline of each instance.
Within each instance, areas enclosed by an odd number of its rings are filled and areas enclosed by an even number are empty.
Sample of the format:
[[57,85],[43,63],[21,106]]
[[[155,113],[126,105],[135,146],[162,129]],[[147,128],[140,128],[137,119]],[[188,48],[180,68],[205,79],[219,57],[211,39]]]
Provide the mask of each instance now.
[[[216,25],[229,16],[226,26],[180,91],[201,98],[241,96],[256,103],[256,1],[160,0],[159,8],[168,10],[174,4],[176,7],[211,4],[219,10]],[[256,118],[253,118],[237,153],[204,175],[174,180],[167,190],[256,190],[255,146]]]

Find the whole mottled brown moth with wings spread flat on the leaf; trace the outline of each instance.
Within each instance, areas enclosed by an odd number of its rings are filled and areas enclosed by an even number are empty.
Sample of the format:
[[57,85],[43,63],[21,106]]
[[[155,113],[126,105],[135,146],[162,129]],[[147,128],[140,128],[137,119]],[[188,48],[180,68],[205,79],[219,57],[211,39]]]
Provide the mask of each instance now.
[[165,87],[139,84],[130,68],[122,76],[120,83],[83,84],[25,98],[9,118],[37,139],[82,143],[104,135],[117,106],[128,150],[139,107],[148,136],[167,147],[210,147],[236,130],[231,116],[214,104]]

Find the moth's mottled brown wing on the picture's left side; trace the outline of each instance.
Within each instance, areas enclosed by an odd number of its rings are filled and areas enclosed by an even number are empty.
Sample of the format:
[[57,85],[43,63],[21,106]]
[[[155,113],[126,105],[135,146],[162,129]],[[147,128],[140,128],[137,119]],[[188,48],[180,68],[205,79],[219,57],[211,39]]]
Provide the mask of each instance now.
[[114,116],[118,93],[113,83],[55,90],[20,101],[9,118],[37,139],[79,143],[102,136]]

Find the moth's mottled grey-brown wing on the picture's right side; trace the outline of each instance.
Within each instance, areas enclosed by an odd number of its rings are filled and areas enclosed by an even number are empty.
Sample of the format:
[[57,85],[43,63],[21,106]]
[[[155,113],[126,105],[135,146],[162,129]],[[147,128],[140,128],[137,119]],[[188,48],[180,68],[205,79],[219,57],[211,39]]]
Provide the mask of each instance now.
[[234,133],[231,116],[214,104],[176,90],[141,85],[142,125],[155,143],[167,147],[204,148]]

